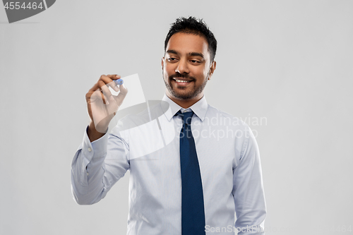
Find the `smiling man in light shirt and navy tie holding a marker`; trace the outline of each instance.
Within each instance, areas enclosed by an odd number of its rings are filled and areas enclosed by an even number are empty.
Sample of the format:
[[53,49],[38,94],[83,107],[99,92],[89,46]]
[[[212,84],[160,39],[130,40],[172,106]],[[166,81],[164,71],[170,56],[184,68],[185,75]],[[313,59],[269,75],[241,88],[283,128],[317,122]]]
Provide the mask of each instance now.
[[[86,95],[92,121],[72,163],[78,204],[97,203],[130,170],[129,235],[264,234],[256,140],[246,123],[208,105],[203,95],[216,48],[202,20],[177,19],[162,58],[167,111],[155,105],[129,115],[109,134],[104,132],[127,90],[115,85],[120,76],[100,77]],[[120,89],[119,95],[107,86]],[[124,128],[155,113],[149,122]]]

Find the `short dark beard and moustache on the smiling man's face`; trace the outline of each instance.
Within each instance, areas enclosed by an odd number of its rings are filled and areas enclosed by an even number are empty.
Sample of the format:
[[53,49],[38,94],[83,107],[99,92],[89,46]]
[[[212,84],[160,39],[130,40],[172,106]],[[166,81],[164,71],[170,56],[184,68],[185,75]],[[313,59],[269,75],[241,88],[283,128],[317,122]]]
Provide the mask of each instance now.
[[[164,71],[162,71],[162,74],[163,73]],[[164,79],[164,76],[162,77],[164,80],[165,87],[169,90],[170,94],[172,94],[173,97],[177,98],[178,100],[191,100],[197,97],[201,92],[203,92],[203,89],[206,86],[209,76],[210,72],[207,73],[207,76],[205,77],[205,80],[203,80],[203,83],[201,85],[196,85],[196,78],[193,78],[189,75],[181,75],[180,73],[175,73],[172,76],[169,76],[167,81]],[[186,78],[188,80],[191,80],[191,83],[193,83],[193,85],[189,85],[187,88],[178,85],[174,85],[173,87],[173,78]],[[184,90],[184,92],[181,92],[181,90]]]

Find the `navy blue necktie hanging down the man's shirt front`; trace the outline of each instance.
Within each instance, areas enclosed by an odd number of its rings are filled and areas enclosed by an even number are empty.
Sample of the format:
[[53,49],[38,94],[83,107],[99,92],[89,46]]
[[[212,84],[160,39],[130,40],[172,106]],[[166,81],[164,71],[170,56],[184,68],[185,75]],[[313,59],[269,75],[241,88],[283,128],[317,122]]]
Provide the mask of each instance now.
[[205,235],[203,189],[195,141],[191,133],[193,112],[177,112],[183,119],[180,131],[181,234]]

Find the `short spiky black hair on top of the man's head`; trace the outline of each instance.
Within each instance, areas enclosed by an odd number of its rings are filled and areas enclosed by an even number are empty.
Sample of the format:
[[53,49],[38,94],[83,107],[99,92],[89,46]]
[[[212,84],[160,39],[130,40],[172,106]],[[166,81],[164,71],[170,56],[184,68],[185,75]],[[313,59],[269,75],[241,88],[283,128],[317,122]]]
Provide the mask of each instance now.
[[165,38],[164,53],[167,49],[167,44],[169,42],[170,37],[172,37],[172,35],[177,32],[191,33],[194,35],[200,35],[202,37],[205,37],[208,42],[208,51],[210,52],[211,62],[215,59],[217,50],[217,40],[215,39],[213,32],[211,32],[206,23],[203,22],[203,19],[197,20],[193,16],[190,16],[189,18],[177,18],[177,20],[172,23],[167,37]]

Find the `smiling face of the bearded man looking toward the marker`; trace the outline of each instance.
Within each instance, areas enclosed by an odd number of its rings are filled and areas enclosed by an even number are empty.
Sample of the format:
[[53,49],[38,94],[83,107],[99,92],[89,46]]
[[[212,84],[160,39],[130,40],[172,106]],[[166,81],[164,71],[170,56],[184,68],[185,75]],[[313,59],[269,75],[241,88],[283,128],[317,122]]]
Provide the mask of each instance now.
[[170,37],[162,58],[167,95],[177,100],[200,100],[215,70],[208,42],[199,35],[177,32]]

